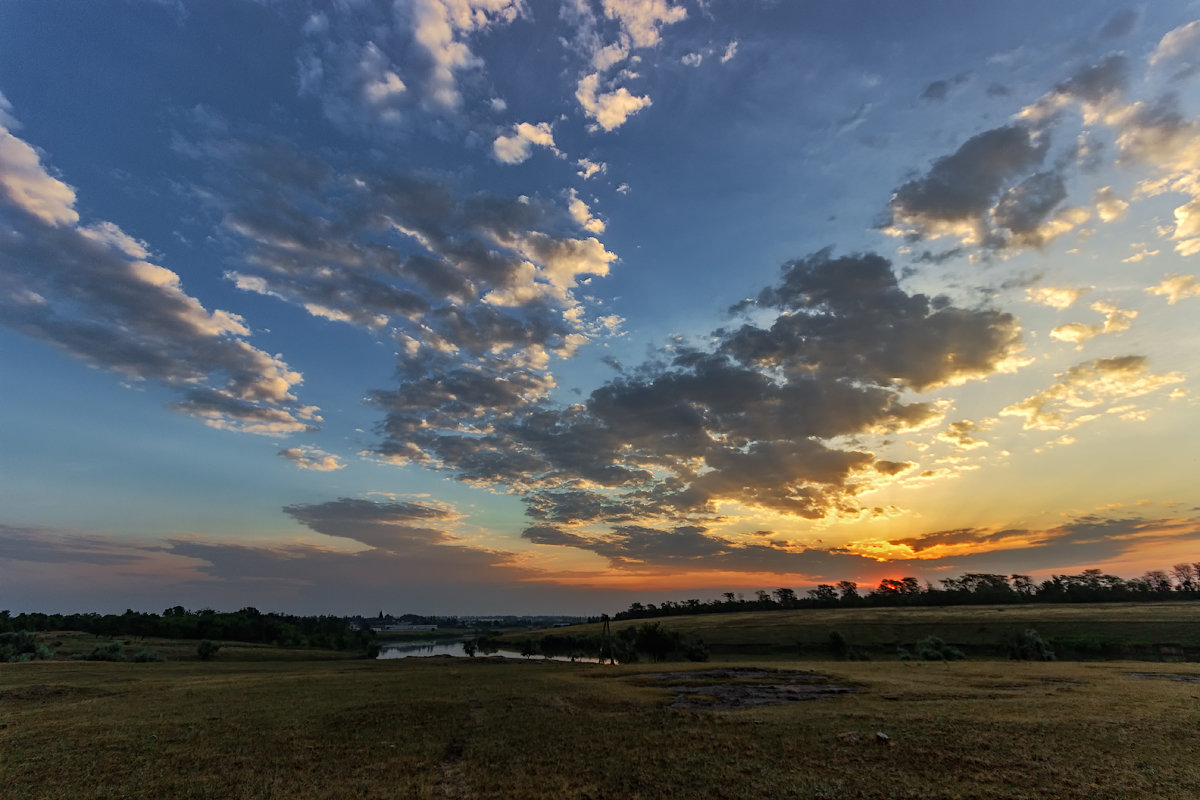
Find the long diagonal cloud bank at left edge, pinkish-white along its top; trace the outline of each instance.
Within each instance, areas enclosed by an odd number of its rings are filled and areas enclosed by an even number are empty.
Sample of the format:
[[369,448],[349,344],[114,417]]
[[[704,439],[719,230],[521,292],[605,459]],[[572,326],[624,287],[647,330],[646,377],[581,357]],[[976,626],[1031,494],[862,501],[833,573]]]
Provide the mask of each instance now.
[[[74,191],[0,127],[0,320],[73,357],[185,395],[170,408],[216,427],[288,433],[319,420],[295,408],[301,375],[240,337],[245,320],[209,311],[148,246],[116,224],[79,224]],[[70,309],[70,311],[68,311]]]

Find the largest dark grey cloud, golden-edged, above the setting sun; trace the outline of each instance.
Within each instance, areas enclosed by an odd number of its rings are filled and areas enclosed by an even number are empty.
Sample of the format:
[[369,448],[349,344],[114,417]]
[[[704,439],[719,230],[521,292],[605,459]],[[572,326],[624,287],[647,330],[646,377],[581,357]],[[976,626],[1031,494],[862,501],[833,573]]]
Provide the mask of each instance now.
[[941,411],[904,390],[990,374],[1021,349],[1012,315],[910,295],[871,254],[791,261],[738,309],[774,321],[676,344],[568,408],[454,372],[403,383],[376,396],[380,455],[517,489],[542,523],[710,519],[719,500],[820,518],[902,471],[832,440],[932,425]]

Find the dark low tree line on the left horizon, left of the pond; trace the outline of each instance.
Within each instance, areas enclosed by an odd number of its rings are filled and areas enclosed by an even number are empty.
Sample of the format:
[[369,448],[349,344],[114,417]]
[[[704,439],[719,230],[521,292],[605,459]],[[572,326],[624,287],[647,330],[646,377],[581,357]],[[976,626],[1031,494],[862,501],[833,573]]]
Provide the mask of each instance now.
[[253,607],[216,612],[175,606],[162,614],[128,609],[124,614],[12,615],[0,610],[0,633],[14,631],[83,631],[107,637],[216,639],[330,650],[366,648],[374,639],[370,627],[353,626],[341,616],[264,614]]

